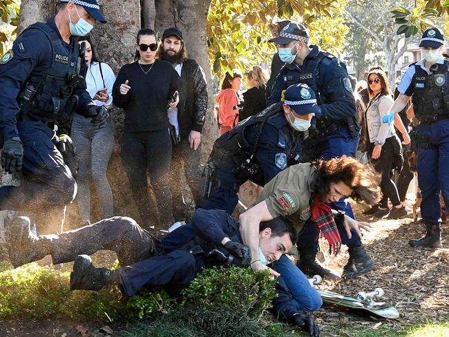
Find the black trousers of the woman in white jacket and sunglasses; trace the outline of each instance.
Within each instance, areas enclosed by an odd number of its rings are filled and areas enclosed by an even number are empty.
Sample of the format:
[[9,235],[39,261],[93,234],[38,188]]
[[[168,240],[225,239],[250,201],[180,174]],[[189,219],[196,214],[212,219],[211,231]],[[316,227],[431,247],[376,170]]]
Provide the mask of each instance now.
[[398,206],[399,204],[401,204],[396,184],[394,184],[392,180],[395,162],[394,142],[399,142],[399,139],[397,139],[396,136],[385,139],[385,144],[383,144],[382,146],[381,156],[379,157],[379,159],[374,160],[371,157],[372,151],[374,149],[374,143],[370,144],[370,148],[368,151],[368,156],[370,157],[374,169],[382,175],[381,191],[383,194],[384,202],[382,206],[388,206],[388,198],[392,202],[393,206]]

